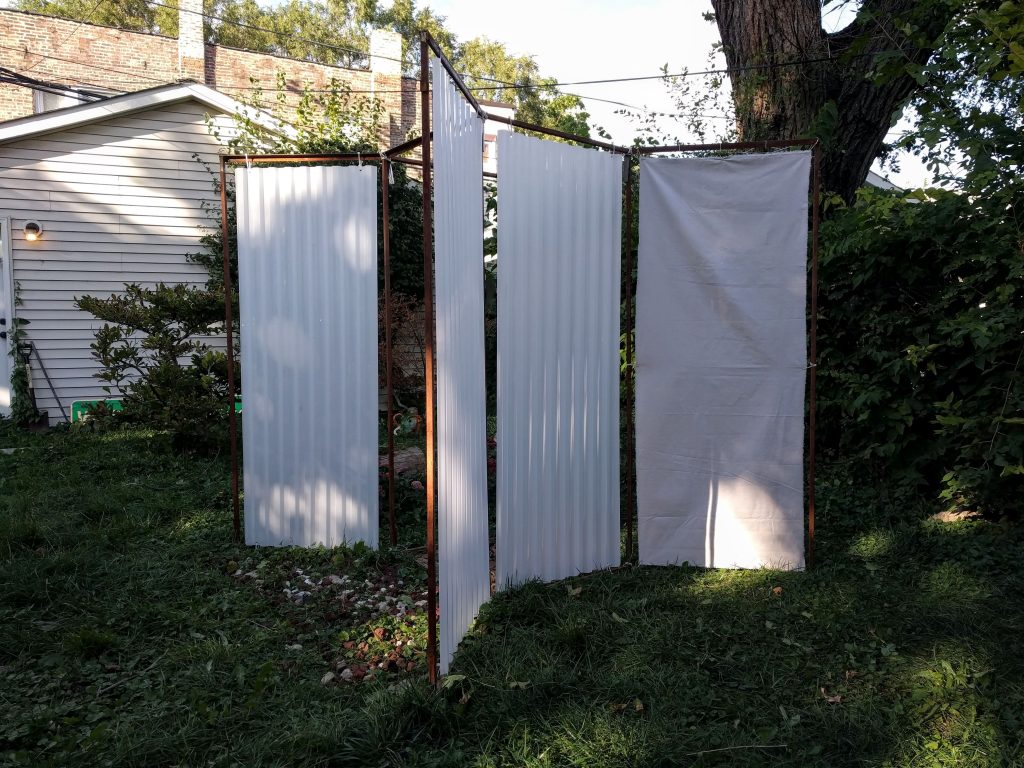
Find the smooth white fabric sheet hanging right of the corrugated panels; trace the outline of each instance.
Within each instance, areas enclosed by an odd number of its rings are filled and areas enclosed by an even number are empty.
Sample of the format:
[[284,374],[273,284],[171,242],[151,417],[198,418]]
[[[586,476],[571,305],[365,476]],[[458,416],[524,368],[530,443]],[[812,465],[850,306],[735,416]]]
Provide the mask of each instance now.
[[645,159],[640,561],[804,566],[810,153]]

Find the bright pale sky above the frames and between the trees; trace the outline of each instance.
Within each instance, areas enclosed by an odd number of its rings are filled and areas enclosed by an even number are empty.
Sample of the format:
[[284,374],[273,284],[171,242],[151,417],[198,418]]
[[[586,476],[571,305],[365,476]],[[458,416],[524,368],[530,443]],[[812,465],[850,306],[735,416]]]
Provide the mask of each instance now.
[[[657,75],[663,66],[670,73],[708,69],[718,29],[702,14],[712,10],[710,0],[517,0],[508,3],[480,0],[425,0],[460,40],[488,37],[504,43],[511,53],[531,55],[541,74],[559,82],[603,80]],[[845,10],[825,17],[826,28],[846,24]],[[725,66],[719,56],[714,68]],[[583,96],[622,101],[657,113],[675,106],[659,80],[565,86]],[[591,126],[605,128],[620,143],[632,141],[637,124],[615,111],[621,106],[586,101]],[[724,122],[711,119],[714,132]],[[692,140],[683,123],[658,118],[659,127],[682,140]],[[715,136],[709,134],[709,140]],[[876,166],[876,171],[881,169]],[[921,186],[930,178],[915,158],[901,159],[898,173],[884,172],[904,187]]]

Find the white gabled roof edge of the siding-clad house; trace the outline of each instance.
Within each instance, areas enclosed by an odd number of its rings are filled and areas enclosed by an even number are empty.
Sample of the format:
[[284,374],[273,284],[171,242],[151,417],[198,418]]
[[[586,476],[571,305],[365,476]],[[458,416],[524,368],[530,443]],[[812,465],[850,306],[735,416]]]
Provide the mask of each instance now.
[[189,100],[198,101],[217,112],[246,117],[274,133],[289,135],[293,132],[290,126],[265,112],[247,106],[208,86],[185,82],[8,120],[0,123],[0,144]]

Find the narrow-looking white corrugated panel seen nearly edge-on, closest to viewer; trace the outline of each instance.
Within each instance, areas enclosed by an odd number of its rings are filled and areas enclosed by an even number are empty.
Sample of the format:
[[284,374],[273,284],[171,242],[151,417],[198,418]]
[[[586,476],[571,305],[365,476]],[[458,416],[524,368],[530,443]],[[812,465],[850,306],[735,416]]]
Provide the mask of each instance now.
[[483,355],[483,122],[433,62],[440,674],[490,596]]

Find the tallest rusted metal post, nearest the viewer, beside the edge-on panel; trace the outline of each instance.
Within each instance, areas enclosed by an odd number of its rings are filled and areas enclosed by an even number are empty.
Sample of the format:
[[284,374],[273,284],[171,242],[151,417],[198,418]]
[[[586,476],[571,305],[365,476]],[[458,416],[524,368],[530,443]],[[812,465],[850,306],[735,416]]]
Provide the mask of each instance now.
[[430,162],[430,35],[420,33],[420,140],[423,157],[423,326],[427,444],[427,678],[437,684],[437,543],[434,539],[434,249]]

